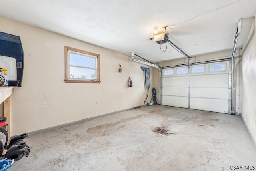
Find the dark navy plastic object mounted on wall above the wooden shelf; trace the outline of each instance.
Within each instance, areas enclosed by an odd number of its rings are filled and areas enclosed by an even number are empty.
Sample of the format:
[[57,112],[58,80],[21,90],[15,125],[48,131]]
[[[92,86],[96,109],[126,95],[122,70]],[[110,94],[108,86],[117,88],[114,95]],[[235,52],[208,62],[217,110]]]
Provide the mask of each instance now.
[[[0,32],[0,55],[9,56],[16,59],[17,81],[19,81],[18,87],[21,87],[24,67],[24,55],[20,37]],[[12,84],[12,81],[9,81],[9,85],[10,84]]]

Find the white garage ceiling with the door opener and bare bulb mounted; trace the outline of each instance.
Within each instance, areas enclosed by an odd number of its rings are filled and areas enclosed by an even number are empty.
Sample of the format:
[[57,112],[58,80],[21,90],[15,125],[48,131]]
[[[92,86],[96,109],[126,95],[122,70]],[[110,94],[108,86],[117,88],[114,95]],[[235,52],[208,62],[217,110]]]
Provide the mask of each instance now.
[[[256,0],[0,0],[0,15],[160,62],[184,58],[154,40],[153,27],[167,25],[170,40],[189,56],[231,50],[242,18],[242,48]],[[165,44],[162,44],[165,49]],[[231,55],[231,54],[230,54]]]

